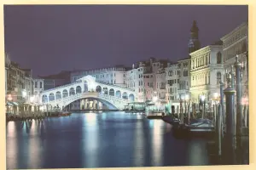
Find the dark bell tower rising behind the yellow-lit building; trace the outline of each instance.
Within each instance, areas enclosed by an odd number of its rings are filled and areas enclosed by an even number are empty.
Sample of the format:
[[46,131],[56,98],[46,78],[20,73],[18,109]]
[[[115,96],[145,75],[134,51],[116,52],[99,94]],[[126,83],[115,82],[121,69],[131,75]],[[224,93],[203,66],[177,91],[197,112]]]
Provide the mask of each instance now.
[[189,54],[200,49],[201,43],[198,38],[198,27],[196,26],[196,21],[193,21],[193,26],[190,29],[190,38],[189,38]]

